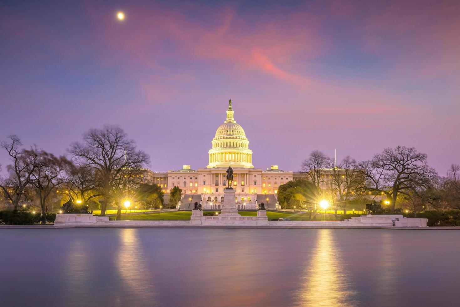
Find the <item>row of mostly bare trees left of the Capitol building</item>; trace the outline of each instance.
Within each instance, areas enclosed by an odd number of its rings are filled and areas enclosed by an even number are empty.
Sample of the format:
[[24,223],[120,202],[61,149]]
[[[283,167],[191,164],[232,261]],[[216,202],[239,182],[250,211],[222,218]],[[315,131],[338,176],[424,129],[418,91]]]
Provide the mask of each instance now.
[[139,209],[163,204],[164,192],[147,180],[149,156],[120,127],[90,129],[81,142],[69,146],[65,156],[22,145],[16,135],[1,142],[11,164],[0,177],[0,203],[36,211],[43,223],[47,214],[58,212],[66,202],[90,211],[101,209],[101,215],[108,206],[115,207],[117,218],[127,201]]

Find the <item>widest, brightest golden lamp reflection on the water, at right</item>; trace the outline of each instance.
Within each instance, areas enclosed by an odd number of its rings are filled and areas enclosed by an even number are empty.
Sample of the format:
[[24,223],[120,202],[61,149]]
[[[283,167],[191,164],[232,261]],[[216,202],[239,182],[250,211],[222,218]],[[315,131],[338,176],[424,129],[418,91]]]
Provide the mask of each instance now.
[[357,292],[345,272],[333,230],[318,231],[313,256],[306,265],[305,290],[299,298],[302,306],[354,306]]

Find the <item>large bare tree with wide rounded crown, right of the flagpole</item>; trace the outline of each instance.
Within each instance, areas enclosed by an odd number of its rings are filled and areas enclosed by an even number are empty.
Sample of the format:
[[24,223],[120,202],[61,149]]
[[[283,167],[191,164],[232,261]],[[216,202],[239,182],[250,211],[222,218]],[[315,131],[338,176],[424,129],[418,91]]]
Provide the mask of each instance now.
[[418,193],[420,189],[430,187],[437,174],[426,159],[427,155],[417,152],[414,147],[386,148],[372,160],[360,163],[364,177],[362,188],[384,193],[394,210],[399,193],[408,195],[411,191]]

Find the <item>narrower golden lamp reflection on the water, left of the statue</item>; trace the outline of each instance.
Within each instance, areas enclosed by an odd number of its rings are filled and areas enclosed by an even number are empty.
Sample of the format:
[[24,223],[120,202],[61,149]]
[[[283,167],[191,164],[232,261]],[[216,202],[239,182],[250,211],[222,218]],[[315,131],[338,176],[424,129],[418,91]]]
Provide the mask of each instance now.
[[123,282],[123,291],[129,292],[132,296],[142,297],[144,301],[154,305],[156,293],[152,291],[152,272],[142,269],[146,259],[137,232],[137,229],[120,230],[117,269]]

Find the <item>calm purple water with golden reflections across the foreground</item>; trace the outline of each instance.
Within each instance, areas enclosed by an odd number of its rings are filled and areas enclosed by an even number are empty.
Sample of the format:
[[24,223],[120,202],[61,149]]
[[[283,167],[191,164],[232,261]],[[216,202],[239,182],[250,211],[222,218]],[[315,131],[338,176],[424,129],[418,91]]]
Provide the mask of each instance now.
[[1,306],[454,306],[460,232],[0,229]]

